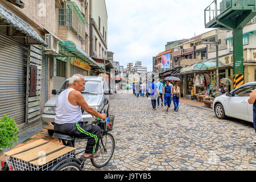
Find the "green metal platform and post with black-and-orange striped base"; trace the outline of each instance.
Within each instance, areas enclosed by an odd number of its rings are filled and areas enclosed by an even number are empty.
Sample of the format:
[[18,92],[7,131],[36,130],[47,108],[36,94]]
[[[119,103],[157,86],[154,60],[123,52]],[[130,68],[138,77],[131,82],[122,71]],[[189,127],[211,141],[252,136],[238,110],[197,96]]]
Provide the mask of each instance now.
[[205,28],[233,30],[234,88],[244,83],[243,27],[256,15],[256,0],[214,0],[204,10]]

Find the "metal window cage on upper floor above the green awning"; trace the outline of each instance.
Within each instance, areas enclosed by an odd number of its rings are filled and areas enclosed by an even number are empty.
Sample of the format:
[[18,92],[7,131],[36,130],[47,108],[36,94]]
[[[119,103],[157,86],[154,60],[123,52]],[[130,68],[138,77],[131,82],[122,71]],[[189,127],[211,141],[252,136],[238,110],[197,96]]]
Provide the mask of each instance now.
[[80,40],[85,41],[85,19],[75,2],[61,3],[59,26],[67,26]]

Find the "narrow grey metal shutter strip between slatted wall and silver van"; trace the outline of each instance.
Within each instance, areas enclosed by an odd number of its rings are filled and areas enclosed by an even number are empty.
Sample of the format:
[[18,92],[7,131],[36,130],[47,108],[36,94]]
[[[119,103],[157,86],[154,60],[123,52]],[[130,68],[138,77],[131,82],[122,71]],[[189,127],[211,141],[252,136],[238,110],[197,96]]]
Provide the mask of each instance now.
[[46,82],[47,82],[47,76],[46,76],[46,55],[43,55],[42,56],[41,99],[40,99],[40,111],[41,111],[41,113],[43,113],[43,111],[44,111],[44,104],[46,104],[46,101],[47,101]]

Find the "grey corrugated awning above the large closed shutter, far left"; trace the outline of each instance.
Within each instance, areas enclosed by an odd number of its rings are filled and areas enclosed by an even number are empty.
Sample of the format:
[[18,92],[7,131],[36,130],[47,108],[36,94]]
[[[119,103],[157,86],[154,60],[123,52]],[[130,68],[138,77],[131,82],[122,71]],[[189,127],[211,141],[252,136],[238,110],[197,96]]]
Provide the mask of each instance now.
[[0,20],[9,24],[12,27],[15,27],[16,30],[19,30],[27,37],[35,40],[36,42],[43,44],[46,46],[46,42],[35,32],[35,30],[23,19],[19,18],[19,16],[15,15],[5,6],[0,4]]

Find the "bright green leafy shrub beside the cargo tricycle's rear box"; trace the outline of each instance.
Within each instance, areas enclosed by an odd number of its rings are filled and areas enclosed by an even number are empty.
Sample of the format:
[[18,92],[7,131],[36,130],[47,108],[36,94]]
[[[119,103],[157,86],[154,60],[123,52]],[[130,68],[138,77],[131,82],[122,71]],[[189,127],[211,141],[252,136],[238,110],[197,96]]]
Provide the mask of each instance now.
[[18,126],[14,118],[7,117],[6,114],[0,118],[0,148],[9,148],[17,142],[19,134]]

